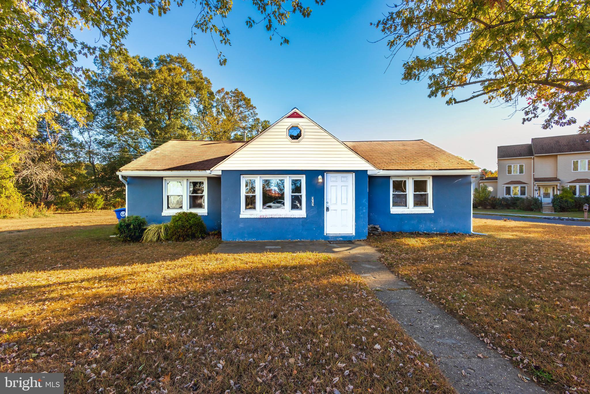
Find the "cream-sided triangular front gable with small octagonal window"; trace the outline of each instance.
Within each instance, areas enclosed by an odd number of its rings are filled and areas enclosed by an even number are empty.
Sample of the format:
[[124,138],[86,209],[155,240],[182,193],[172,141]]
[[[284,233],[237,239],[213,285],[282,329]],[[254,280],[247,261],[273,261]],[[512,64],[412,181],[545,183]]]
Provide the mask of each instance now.
[[[293,128],[300,128],[301,136],[297,136],[297,130]],[[376,168],[300,110],[294,108],[212,170],[376,170]]]

